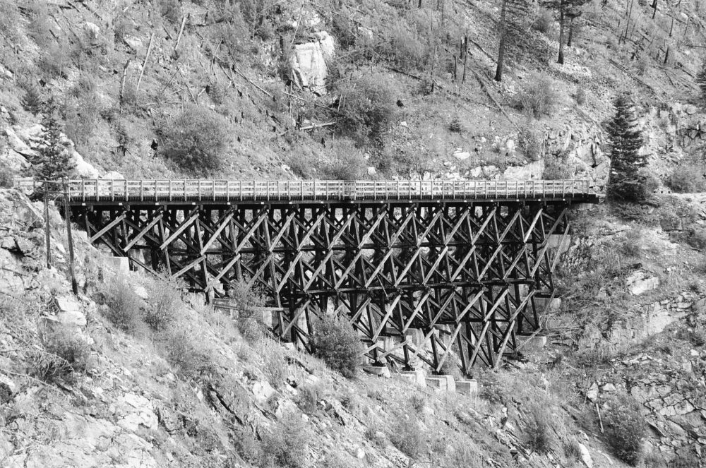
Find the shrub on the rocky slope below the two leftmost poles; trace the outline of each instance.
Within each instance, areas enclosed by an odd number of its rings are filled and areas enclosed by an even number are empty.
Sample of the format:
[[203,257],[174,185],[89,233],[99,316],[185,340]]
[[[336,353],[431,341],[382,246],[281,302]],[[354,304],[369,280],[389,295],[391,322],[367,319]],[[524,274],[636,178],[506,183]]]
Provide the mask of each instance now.
[[32,371],[45,380],[65,377],[90,368],[90,342],[76,329],[60,325],[42,335],[44,352],[30,356]]

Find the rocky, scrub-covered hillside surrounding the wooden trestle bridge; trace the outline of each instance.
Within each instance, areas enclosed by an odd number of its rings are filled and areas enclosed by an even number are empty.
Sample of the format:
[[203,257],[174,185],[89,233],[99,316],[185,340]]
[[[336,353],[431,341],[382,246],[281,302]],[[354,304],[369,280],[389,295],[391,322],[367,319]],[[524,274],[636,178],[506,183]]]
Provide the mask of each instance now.
[[655,192],[573,213],[546,347],[462,395],[343,378],[80,232],[74,296],[59,213],[47,267],[43,205],[0,189],[0,466],[705,466],[700,4],[588,2],[562,65],[547,6],[498,83],[499,1],[0,0],[0,183],[54,109],[84,177],[602,190],[630,90]]

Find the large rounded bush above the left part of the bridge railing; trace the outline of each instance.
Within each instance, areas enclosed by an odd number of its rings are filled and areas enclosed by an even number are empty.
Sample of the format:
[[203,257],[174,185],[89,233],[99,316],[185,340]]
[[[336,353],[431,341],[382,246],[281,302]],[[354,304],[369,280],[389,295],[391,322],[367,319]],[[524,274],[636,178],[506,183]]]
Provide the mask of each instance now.
[[228,121],[196,104],[189,104],[176,118],[163,122],[159,133],[164,140],[164,157],[196,174],[222,167],[231,140]]

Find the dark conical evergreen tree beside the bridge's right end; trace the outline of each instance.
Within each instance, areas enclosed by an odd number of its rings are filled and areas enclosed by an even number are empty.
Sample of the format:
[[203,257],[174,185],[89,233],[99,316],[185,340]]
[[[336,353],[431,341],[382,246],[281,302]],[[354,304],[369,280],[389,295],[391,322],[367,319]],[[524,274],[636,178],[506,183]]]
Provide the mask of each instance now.
[[616,113],[608,124],[611,143],[611,169],[607,196],[611,200],[639,201],[645,196],[645,178],[640,169],[647,160],[639,154],[642,133],[635,118],[635,106],[629,95],[615,100]]

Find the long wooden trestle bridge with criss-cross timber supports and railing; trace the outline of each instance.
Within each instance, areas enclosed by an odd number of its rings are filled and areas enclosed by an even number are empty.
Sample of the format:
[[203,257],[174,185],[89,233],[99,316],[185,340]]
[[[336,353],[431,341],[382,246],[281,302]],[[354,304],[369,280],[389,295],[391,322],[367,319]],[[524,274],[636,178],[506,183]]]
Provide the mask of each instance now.
[[466,373],[538,330],[550,236],[567,234],[571,204],[599,200],[587,181],[80,179],[64,196],[90,241],[133,267],[222,296],[261,289],[298,346],[335,313],[373,361]]

